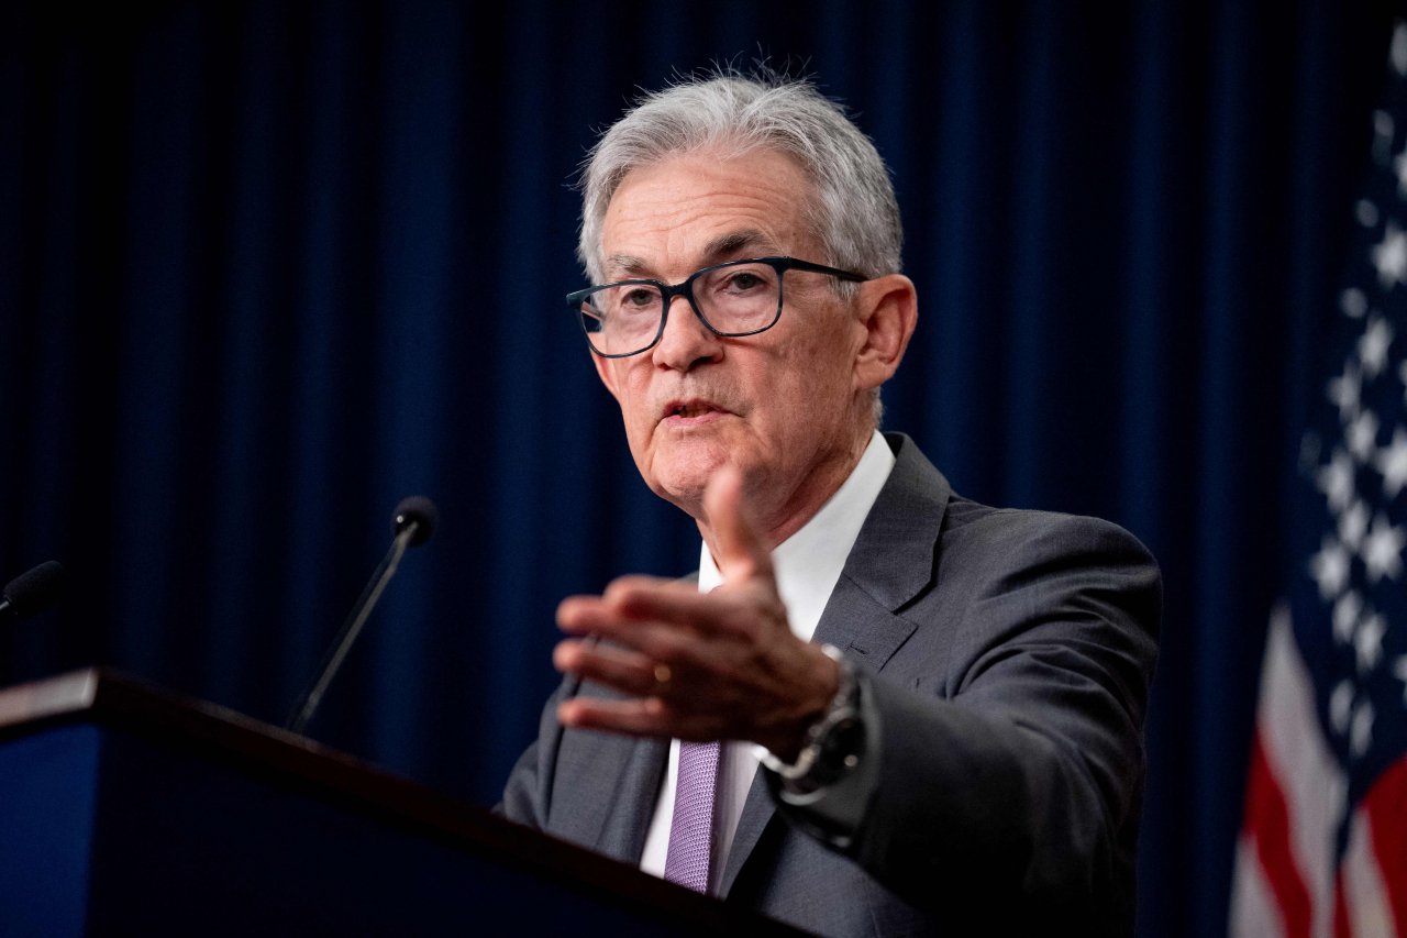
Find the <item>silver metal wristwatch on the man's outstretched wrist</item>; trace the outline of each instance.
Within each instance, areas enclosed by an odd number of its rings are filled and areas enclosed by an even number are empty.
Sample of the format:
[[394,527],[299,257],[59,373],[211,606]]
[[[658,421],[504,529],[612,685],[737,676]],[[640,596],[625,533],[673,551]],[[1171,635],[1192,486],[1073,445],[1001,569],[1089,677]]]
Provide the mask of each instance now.
[[806,742],[796,761],[788,765],[765,746],[757,746],[758,761],[777,776],[781,790],[802,799],[822,792],[854,770],[865,751],[865,724],[860,715],[855,666],[834,645],[822,645],[820,651],[840,665],[840,687],[826,711],[806,728]]

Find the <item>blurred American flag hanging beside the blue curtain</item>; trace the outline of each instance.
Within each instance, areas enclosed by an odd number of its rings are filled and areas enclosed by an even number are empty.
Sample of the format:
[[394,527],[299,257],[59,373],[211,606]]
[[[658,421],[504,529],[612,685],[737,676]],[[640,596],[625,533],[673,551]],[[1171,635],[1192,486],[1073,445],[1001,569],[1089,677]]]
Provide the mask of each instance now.
[[1407,938],[1407,24],[1373,113],[1271,615],[1233,938]]

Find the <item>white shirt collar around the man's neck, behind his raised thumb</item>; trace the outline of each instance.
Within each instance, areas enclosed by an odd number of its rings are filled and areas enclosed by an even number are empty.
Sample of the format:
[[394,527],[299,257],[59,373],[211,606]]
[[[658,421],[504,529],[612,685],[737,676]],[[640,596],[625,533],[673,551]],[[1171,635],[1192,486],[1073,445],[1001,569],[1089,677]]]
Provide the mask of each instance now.
[[[846,558],[860,537],[860,528],[870,514],[879,490],[889,479],[895,458],[889,444],[877,430],[865,446],[860,463],[841,483],[836,494],[820,507],[801,531],[782,541],[772,551],[777,570],[777,592],[787,604],[787,618],[792,632],[810,641],[820,614],[830,600]],[[708,544],[699,549],[699,592],[706,593],[723,582]]]

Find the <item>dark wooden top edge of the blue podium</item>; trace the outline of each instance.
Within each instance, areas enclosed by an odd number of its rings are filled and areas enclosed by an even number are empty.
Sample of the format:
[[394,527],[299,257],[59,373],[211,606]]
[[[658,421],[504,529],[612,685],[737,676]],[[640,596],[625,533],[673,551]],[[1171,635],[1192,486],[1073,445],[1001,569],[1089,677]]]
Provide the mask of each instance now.
[[138,734],[535,879],[668,920],[687,934],[803,934],[387,775],[305,737],[107,668],[0,690],[0,742],[66,723]]

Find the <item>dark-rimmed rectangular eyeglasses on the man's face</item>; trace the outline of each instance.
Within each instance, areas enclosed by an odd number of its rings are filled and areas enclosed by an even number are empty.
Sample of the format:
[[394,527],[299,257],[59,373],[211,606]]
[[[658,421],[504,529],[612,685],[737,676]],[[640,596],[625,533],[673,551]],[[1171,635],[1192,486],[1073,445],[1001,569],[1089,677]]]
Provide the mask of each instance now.
[[870,277],[796,258],[729,261],[695,272],[684,283],[620,280],[567,294],[567,307],[581,320],[591,351],[626,358],[654,348],[664,335],[674,297],[689,301],[694,315],[715,335],[757,335],[782,317],[782,280],[788,270],[826,273],[861,283]]

